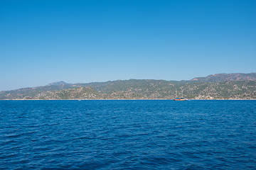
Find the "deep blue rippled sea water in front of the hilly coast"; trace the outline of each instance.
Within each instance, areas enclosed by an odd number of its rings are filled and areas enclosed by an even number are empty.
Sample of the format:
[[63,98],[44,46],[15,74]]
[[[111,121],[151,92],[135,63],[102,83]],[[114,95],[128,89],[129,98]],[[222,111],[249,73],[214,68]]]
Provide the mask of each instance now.
[[256,169],[256,101],[0,101],[0,169]]

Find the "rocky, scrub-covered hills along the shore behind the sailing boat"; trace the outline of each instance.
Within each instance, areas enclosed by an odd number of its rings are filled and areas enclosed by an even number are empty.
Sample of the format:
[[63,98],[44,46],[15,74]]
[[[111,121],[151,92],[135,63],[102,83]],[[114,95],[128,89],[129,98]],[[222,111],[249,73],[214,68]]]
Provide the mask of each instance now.
[[256,73],[213,74],[190,81],[129,79],[88,84],[64,81],[46,86],[1,91],[0,99],[255,99]]

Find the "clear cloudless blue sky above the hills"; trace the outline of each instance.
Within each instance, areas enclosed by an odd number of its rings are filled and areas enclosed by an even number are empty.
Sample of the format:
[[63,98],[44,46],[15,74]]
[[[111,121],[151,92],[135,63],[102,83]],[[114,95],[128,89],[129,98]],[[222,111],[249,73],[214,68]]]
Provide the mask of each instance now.
[[256,1],[0,1],[0,91],[256,72]]

